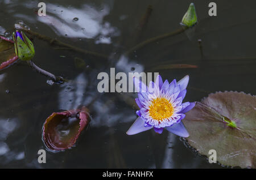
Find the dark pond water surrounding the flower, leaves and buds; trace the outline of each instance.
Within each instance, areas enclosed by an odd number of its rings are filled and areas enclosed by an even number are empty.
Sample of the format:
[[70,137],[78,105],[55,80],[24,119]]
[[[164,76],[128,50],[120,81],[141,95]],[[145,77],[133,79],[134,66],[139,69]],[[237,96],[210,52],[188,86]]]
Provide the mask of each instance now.
[[[71,82],[49,85],[48,78],[22,62],[0,72],[1,168],[222,168],[209,164],[167,131],[126,135],[137,117],[127,98],[136,94],[99,93],[97,75],[109,72],[110,67],[116,72],[159,72],[168,80],[189,74],[185,101],[200,101],[216,91],[255,95],[255,1],[216,0],[217,16],[209,17],[211,1],[194,0],[199,24],[192,40],[181,33],[128,56],[125,52],[138,42],[179,29],[192,1],[45,0],[45,17],[37,15],[39,2],[1,0],[0,34],[10,36],[14,24],[22,20],[32,31],[108,59],[56,49],[33,38],[36,65]],[[143,22],[149,5],[152,12]],[[79,66],[77,59],[85,65]],[[168,68],[171,64],[198,68]],[[38,151],[46,149],[42,141],[46,118],[92,100],[92,123],[76,146],[59,153],[47,151],[47,163],[39,164]]]

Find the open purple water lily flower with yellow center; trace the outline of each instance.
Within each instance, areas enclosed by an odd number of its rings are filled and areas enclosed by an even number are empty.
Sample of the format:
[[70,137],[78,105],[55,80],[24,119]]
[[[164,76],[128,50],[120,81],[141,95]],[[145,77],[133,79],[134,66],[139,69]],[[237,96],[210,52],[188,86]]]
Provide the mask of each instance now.
[[156,133],[161,134],[163,129],[187,138],[188,131],[184,127],[181,119],[195,106],[195,102],[182,103],[189,76],[176,82],[174,79],[170,84],[168,80],[163,80],[157,76],[155,83],[150,82],[147,87],[138,78],[134,77],[134,85],[137,89],[138,98],[135,98],[140,110],[136,113],[139,116],[133,125],[126,132],[127,135],[138,134],[139,132],[154,128]]

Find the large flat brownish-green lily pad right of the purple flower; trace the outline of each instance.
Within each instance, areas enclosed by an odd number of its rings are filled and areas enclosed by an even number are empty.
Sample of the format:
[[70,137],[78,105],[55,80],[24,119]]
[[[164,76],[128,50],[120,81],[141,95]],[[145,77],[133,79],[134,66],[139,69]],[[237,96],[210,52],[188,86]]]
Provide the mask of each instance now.
[[256,96],[243,92],[210,94],[186,114],[187,142],[208,158],[210,149],[226,166],[256,166]]

